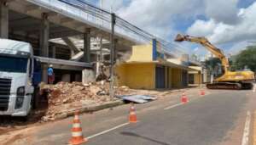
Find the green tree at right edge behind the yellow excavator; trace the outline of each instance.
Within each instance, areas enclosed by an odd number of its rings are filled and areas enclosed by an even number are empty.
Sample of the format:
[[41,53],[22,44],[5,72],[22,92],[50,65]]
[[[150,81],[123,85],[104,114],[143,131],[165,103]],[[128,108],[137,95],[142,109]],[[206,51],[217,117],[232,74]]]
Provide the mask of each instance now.
[[236,56],[236,65],[237,70],[243,70],[248,68],[250,70],[256,71],[256,46],[247,47],[247,49],[241,51]]

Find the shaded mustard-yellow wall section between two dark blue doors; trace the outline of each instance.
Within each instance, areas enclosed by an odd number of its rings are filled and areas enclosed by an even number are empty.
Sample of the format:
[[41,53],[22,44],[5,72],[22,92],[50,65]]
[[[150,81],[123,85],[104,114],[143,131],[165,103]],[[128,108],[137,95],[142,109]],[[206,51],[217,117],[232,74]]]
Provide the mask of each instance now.
[[182,70],[177,68],[172,68],[172,87],[180,88],[182,87]]

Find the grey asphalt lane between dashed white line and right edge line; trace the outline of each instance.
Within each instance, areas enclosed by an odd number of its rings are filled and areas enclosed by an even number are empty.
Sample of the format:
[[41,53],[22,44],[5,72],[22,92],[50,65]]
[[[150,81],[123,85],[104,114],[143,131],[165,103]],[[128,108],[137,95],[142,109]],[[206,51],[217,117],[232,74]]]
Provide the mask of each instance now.
[[222,91],[176,108],[156,109],[139,116],[141,122],[136,125],[126,125],[95,137],[88,144],[219,144],[236,127],[236,120],[248,101],[249,96],[246,93]]

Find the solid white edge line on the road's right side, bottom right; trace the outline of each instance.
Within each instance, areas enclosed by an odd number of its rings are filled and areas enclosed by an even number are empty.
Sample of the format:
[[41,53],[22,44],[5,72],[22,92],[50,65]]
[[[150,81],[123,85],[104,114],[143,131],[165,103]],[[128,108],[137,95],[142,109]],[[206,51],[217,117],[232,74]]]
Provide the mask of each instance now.
[[251,113],[250,111],[247,111],[247,119],[246,119],[246,123],[243,130],[241,145],[249,144],[250,123],[251,123]]

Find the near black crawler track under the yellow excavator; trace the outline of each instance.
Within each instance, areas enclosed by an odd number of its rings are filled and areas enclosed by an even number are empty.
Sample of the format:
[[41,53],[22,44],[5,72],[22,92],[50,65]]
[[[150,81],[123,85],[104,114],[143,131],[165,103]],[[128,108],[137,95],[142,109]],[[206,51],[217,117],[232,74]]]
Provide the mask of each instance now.
[[231,82],[215,82],[207,84],[208,89],[230,89],[230,90],[241,90],[242,86],[240,83]]

